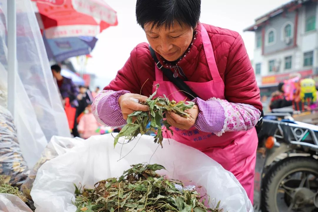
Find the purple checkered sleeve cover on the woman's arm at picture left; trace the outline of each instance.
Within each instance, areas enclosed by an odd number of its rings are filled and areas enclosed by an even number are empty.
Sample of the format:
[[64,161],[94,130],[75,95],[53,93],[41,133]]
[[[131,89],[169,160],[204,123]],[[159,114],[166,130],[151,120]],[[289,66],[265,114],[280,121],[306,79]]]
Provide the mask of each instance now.
[[118,104],[119,97],[125,93],[129,93],[129,91],[107,90],[100,92],[92,104],[92,112],[96,120],[109,127],[120,127],[126,124]]

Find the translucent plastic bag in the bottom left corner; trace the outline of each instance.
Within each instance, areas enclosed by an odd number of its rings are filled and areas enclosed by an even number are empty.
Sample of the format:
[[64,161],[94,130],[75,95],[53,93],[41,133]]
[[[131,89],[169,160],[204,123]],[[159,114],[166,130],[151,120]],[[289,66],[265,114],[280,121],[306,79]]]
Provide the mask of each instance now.
[[19,197],[0,194],[0,212],[32,212],[32,210]]

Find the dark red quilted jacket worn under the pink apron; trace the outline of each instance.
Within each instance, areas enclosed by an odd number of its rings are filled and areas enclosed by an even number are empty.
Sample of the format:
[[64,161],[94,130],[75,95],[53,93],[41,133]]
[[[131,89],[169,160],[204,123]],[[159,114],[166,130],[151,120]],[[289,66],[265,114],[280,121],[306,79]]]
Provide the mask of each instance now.
[[[259,88],[239,33],[208,24],[203,25],[211,39],[218,71],[225,84],[226,100],[249,104],[261,110]],[[212,80],[212,77],[204,54],[200,24],[196,31],[190,51],[178,62],[178,65],[189,81],[207,82]],[[157,58],[161,64],[166,64],[160,55],[157,54]],[[166,67],[168,68],[168,65]],[[172,68],[171,71],[174,72],[174,69]],[[134,48],[124,67],[118,71],[116,78],[104,90],[127,90],[131,93],[140,93],[142,88],[142,95],[149,96],[152,93],[153,81],[155,81],[155,61],[150,55],[148,44],[142,43]],[[198,95],[200,96],[199,93]]]

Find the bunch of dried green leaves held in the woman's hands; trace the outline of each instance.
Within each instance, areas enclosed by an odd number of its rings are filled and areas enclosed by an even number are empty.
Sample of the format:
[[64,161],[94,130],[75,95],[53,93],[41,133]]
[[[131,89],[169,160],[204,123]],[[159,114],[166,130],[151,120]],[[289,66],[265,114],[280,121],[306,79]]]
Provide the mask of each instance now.
[[[169,128],[171,125],[166,120],[162,120],[165,116],[166,111],[173,111],[174,113],[182,117],[190,117],[190,114],[186,112],[187,109],[191,109],[194,106],[194,102],[190,101],[169,101],[169,99],[163,95],[163,97],[153,97],[157,93],[159,84],[156,85],[156,91],[149,96],[146,102],[140,102],[140,104],[148,105],[149,111],[135,111],[128,115],[127,125],[125,125],[121,131],[116,135],[114,140],[114,146],[116,146],[118,139],[120,137],[125,137],[125,139],[131,141],[138,134],[145,134],[149,130],[156,132],[155,143],[162,146],[162,125],[164,125],[168,130],[172,132]],[[147,127],[150,122],[150,126]]]

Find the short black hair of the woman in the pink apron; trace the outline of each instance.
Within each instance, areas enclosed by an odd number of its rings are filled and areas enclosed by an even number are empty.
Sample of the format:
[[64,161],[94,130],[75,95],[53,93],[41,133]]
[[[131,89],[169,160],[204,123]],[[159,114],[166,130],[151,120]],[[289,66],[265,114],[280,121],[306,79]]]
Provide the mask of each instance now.
[[190,25],[193,29],[199,22],[201,0],[137,0],[137,23],[144,28],[153,23],[152,28],[165,26],[169,29],[174,21]]

